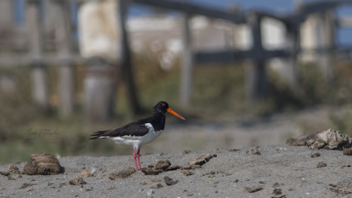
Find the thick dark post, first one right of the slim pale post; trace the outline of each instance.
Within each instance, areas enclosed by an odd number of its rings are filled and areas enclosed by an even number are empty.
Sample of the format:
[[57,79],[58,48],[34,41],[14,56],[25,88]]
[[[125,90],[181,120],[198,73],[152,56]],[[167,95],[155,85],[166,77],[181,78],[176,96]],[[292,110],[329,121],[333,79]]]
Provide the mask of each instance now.
[[251,57],[245,66],[245,89],[247,102],[253,103],[266,97],[268,79],[265,68],[265,51],[262,45],[262,32],[260,30],[260,17],[256,12],[250,12],[247,23],[252,31]]

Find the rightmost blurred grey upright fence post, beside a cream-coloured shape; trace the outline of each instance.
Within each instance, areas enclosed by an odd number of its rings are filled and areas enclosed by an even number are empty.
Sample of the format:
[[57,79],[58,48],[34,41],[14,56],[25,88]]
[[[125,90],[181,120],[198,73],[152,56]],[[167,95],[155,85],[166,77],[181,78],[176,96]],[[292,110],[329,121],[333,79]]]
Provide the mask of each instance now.
[[318,49],[318,66],[327,83],[334,78],[331,51],[335,48],[335,20],[333,10],[316,14],[318,27],[316,29]]

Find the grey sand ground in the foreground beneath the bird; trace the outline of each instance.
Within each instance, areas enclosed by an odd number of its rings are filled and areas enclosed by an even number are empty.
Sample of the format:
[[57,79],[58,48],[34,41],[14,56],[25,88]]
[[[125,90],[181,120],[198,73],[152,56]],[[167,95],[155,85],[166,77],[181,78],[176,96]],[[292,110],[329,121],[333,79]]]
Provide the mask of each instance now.
[[[186,165],[197,156],[209,153],[217,157],[210,159],[201,168],[190,170],[194,175],[186,176],[181,170],[164,172],[159,175],[144,175],[138,171],[127,179],[111,180],[108,175],[117,173],[126,167],[134,167],[132,155],[115,157],[63,157],[59,162],[65,171],[58,175],[22,175],[11,174],[15,180],[8,180],[0,175],[0,197],[336,197],[341,193],[329,190],[329,184],[343,185],[351,190],[351,157],[342,155],[342,151],[310,150],[307,147],[286,145],[260,146],[261,155],[253,155],[254,147],[242,148],[240,151],[219,150],[191,152],[189,154],[159,154],[140,157],[142,167],[155,165],[159,160],[169,160],[171,165]],[[249,151],[249,152],[248,152]],[[310,157],[319,152],[319,157]],[[327,167],[317,168],[323,161]],[[18,168],[23,169],[24,163]],[[82,167],[97,171],[96,177],[83,177],[85,185],[70,185],[69,180],[82,172]],[[7,171],[8,165],[0,166],[0,171]],[[105,172],[103,172],[106,170]],[[203,174],[215,172],[215,174]],[[178,183],[167,186],[165,176]],[[160,182],[141,185],[147,179],[161,179]],[[238,180],[238,181],[237,181]],[[19,189],[24,183],[36,184]],[[65,184],[62,184],[65,183]],[[163,187],[149,188],[162,184]],[[273,185],[278,183],[282,194],[274,195]],[[49,184],[49,185],[48,185]],[[62,187],[59,187],[62,184]],[[347,187],[348,186],[348,187]],[[246,187],[262,190],[247,192]],[[348,197],[349,195],[345,196]]]

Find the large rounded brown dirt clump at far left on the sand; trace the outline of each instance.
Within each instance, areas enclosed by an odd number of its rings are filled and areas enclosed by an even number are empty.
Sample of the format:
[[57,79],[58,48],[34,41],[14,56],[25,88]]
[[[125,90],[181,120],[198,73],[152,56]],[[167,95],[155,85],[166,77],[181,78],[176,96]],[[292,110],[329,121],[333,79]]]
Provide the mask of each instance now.
[[27,175],[59,174],[61,166],[59,161],[49,153],[32,154],[31,161],[25,163],[23,173]]

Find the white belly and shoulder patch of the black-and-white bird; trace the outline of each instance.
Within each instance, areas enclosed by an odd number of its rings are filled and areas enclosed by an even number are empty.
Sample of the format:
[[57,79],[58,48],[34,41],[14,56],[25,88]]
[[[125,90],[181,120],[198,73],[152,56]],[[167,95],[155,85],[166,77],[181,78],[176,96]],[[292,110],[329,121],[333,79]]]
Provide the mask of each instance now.
[[121,137],[110,137],[111,140],[115,141],[117,144],[128,144],[132,145],[134,149],[140,148],[144,144],[148,144],[159,137],[163,130],[154,131],[150,123],[146,123],[145,126],[149,128],[149,132],[144,136],[121,136]]

